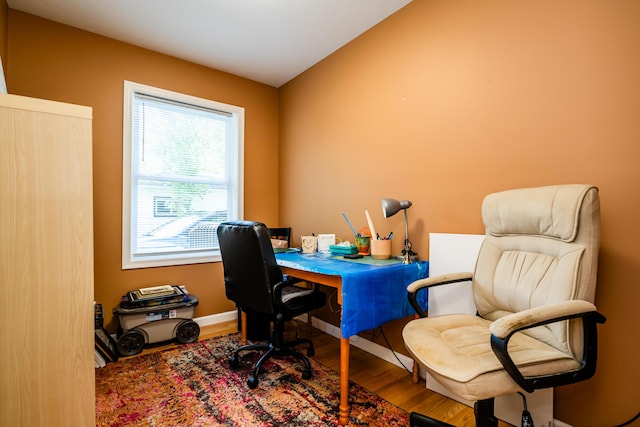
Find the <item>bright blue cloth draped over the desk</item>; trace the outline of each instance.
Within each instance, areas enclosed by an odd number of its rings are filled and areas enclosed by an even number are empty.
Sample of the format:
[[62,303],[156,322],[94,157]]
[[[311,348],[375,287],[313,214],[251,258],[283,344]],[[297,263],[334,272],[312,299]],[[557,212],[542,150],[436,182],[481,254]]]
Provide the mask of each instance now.
[[[343,338],[415,314],[407,299],[407,285],[429,275],[427,261],[402,264],[397,260],[376,265],[300,252],[278,253],[276,259],[282,267],[342,278]],[[426,308],[427,292],[420,296],[420,304]]]

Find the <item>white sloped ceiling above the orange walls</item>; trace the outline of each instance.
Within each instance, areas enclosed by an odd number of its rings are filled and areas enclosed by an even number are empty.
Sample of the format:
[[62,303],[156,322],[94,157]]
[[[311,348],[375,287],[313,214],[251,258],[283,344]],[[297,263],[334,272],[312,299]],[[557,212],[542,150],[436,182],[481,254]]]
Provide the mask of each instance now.
[[279,87],[411,0],[7,0],[20,10]]

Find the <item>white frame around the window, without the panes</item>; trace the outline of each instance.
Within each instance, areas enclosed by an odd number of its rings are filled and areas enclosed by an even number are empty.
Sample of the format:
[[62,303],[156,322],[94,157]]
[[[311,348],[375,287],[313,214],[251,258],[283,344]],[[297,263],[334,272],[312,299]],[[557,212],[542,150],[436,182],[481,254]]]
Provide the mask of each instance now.
[[158,253],[147,255],[134,255],[132,253],[132,106],[135,94],[166,99],[169,102],[178,102],[185,105],[193,105],[195,108],[206,108],[221,111],[231,115],[232,139],[229,165],[233,170],[228,174],[227,218],[241,219],[244,215],[244,108],[225,104],[191,95],[173,92],[131,81],[124,81],[124,105],[123,105],[123,147],[122,147],[122,269],[137,269],[148,267],[176,266],[186,264],[199,264],[221,261],[220,249],[188,251],[185,253]]

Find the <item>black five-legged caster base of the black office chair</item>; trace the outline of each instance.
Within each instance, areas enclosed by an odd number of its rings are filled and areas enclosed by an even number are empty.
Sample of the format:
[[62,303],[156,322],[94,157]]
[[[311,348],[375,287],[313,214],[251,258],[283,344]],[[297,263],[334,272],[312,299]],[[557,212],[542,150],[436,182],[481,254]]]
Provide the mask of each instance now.
[[311,378],[312,371],[311,371],[311,363],[309,362],[309,359],[304,354],[296,350],[295,347],[300,344],[306,344],[308,346],[307,356],[313,356],[315,354],[315,351],[313,348],[313,342],[306,338],[296,338],[295,340],[284,342],[283,330],[284,330],[284,324],[280,321],[275,321],[271,342],[266,344],[248,344],[248,345],[242,346],[238,348],[236,351],[234,351],[233,355],[229,358],[229,364],[231,365],[232,368],[235,368],[239,364],[238,358],[239,358],[240,352],[266,351],[260,357],[260,359],[258,359],[258,361],[256,362],[255,366],[253,367],[253,372],[251,373],[251,376],[247,380],[247,385],[249,386],[249,388],[256,388],[258,386],[258,382],[259,382],[258,377],[260,375],[260,371],[262,370],[262,367],[264,366],[267,360],[269,360],[274,356],[282,357],[282,356],[288,355],[300,360],[304,365],[304,368],[302,370],[302,379],[308,380]]

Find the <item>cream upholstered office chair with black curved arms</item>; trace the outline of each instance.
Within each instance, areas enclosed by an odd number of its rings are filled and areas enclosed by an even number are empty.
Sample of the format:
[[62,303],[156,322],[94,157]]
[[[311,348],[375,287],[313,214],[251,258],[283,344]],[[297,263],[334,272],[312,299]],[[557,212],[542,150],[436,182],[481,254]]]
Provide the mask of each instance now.
[[[558,185],[488,195],[475,272],[418,280],[421,316],[403,330],[415,360],[454,394],[475,401],[476,426],[497,426],[494,397],[556,387],[595,373],[593,304],[600,245],[598,189]],[[426,317],[418,292],[471,280],[477,314]],[[411,414],[411,426],[448,425]],[[524,423],[523,423],[524,424]]]

